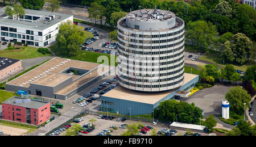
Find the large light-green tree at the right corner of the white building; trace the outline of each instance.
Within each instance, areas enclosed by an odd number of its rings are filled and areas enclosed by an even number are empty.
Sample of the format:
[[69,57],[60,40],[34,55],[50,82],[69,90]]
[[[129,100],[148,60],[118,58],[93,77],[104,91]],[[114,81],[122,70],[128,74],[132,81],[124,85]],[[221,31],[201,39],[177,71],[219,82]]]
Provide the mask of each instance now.
[[85,32],[74,25],[70,20],[59,26],[59,33],[56,35],[56,52],[62,55],[75,55],[79,52],[79,45],[84,43]]

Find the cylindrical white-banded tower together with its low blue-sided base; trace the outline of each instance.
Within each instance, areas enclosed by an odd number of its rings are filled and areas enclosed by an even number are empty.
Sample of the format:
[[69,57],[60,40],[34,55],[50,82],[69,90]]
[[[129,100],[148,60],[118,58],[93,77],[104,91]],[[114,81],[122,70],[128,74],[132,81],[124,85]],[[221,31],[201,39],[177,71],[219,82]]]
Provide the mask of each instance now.
[[132,11],[118,28],[118,87],[101,96],[101,111],[151,114],[163,100],[189,96],[199,75],[184,73],[184,21],[173,12]]

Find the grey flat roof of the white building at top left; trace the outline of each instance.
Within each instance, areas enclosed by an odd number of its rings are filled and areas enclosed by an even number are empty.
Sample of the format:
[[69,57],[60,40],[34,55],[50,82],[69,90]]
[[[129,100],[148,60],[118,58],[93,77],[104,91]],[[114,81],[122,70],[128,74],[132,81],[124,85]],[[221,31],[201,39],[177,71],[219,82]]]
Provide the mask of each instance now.
[[43,19],[38,19],[33,22],[27,22],[23,20],[17,20],[17,19],[7,19],[5,14],[6,7],[3,7],[0,9],[0,25],[8,26],[8,27],[21,27],[21,28],[27,28],[27,29],[33,29],[33,30],[45,30],[48,27],[53,26],[54,24],[60,23],[63,20],[73,16],[68,14],[59,14],[56,12],[46,12],[46,11],[39,11],[39,10],[30,10],[30,9],[24,9],[26,15],[33,15],[33,16],[40,16],[42,18],[43,16],[48,16],[50,14],[55,15],[55,19],[51,20],[49,23],[44,23]]

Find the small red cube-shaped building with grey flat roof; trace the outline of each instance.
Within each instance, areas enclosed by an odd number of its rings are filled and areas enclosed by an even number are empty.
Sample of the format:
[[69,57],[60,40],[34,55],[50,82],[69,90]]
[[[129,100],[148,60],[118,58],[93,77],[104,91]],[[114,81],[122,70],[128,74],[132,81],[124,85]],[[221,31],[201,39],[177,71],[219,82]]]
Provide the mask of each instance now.
[[2,103],[3,119],[39,125],[51,118],[49,102],[18,96]]

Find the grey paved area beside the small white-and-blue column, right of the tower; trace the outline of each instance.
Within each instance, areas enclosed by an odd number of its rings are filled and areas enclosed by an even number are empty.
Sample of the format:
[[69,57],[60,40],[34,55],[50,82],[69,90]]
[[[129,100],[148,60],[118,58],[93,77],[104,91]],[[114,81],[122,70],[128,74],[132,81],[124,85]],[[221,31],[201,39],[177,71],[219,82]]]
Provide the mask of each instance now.
[[233,125],[226,124],[218,119],[218,116],[222,113],[222,100],[230,88],[230,86],[225,85],[214,85],[213,87],[197,91],[187,99],[184,99],[184,101],[195,103],[197,107],[204,110],[204,119],[212,114],[218,123],[226,128],[233,128]]

